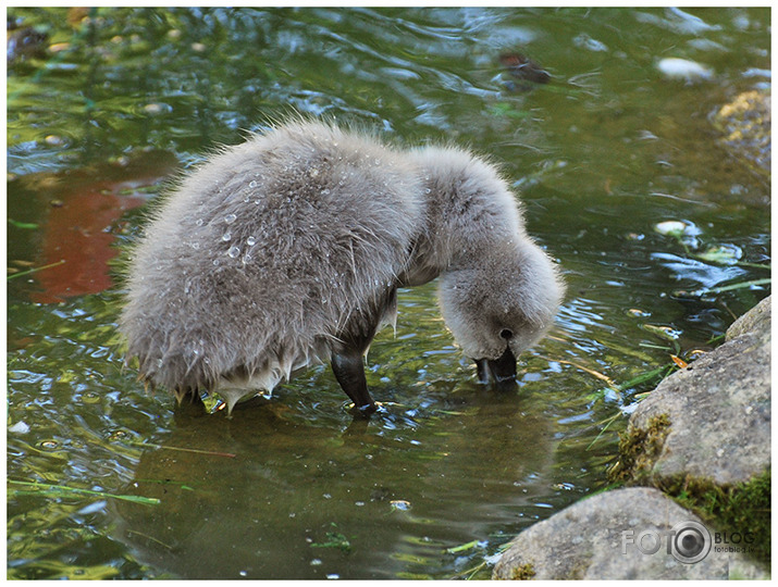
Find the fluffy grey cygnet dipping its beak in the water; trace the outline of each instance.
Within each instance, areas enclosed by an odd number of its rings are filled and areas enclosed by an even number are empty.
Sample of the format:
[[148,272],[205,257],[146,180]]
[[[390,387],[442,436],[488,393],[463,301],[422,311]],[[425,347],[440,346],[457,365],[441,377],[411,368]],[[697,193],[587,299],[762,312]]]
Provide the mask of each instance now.
[[439,276],[443,317],[479,378],[514,382],[564,294],[493,165],[333,124],[293,121],[223,149],[152,216],[128,267],[127,360],[178,401],[217,391],[230,412],[330,361],[369,415],[370,342],[395,321],[398,287]]

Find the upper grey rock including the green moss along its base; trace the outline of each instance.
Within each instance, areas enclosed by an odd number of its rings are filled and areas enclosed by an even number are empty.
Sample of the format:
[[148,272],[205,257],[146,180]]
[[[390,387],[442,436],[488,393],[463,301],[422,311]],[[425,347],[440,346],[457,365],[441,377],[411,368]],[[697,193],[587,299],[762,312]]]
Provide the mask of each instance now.
[[630,417],[610,480],[652,485],[720,533],[770,557],[770,298],[727,342],[666,378]]

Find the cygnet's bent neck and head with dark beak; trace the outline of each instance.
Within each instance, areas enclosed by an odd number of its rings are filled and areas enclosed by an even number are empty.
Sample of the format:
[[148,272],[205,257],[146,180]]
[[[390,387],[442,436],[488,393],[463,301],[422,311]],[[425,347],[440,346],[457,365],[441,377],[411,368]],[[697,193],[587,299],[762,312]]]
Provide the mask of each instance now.
[[563,298],[556,265],[527,234],[495,165],[456,148],[424,148],[418,160],[433,236],[408,280],[440,275],[441,312],[479,378],[514,382],[516,358],[551,326]]

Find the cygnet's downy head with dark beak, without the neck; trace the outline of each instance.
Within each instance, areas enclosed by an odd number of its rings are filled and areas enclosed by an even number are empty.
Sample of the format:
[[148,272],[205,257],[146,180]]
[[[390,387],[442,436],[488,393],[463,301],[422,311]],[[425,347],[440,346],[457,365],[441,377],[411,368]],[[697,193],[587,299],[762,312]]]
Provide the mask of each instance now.
[[516,358],[551,326],[563,294],[555,265],[524,237],[495,247],[478,264],[445,272],[440,303],[479,379],[510,384]]

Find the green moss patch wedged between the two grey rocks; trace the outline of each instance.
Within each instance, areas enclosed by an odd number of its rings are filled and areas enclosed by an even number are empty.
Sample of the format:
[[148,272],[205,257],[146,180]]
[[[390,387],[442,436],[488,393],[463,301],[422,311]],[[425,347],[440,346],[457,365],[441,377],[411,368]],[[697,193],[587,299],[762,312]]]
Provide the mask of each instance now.
[[[740,547],[753,548],[746,555],[769,565],[770,563],[770,482],[768,469],[748,483],[717,486],[707,479],[676,477],[663,480],[662,489],[680,505],[699,515],[711,532],[724,537],[751,533],[750,544]],[[730,542],[731,544],[731,542]],[[725,542],[723,546],[727,546]]]

